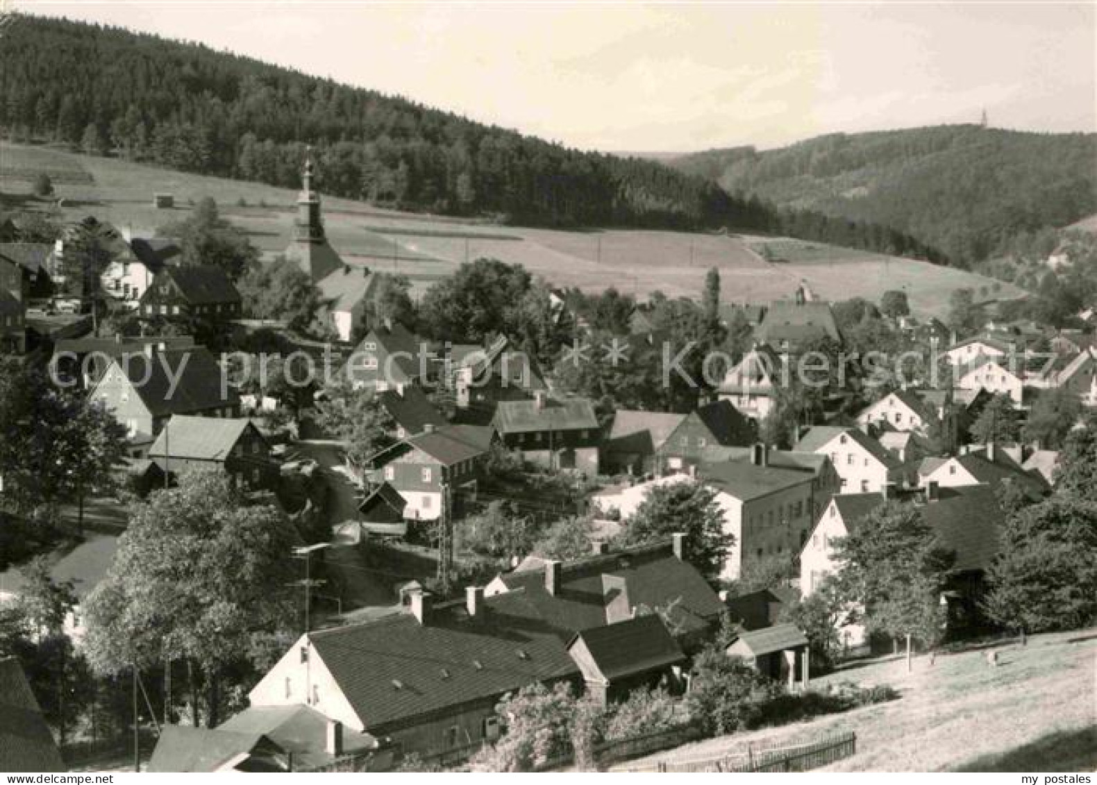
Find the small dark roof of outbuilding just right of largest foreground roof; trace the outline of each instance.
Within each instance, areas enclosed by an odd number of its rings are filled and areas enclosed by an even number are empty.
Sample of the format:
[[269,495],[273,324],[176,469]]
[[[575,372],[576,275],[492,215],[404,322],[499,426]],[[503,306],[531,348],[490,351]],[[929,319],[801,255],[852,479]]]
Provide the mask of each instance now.
[[655,613],[577,633],[568,649],[579,640],[586,644],[595,665],[609,680],[667,668],[686,659]]

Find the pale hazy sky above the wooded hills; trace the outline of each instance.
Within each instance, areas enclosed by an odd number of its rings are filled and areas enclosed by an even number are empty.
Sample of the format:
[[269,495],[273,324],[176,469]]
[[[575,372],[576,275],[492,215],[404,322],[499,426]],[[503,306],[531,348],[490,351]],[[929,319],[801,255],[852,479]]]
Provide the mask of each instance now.
[[1097,132],[1097,3],[52,2],[583,149]]

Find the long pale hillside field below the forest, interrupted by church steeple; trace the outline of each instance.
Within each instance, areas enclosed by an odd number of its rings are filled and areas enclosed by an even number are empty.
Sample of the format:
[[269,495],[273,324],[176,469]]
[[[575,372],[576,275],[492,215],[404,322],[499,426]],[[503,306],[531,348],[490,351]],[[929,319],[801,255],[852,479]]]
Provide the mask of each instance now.
[[[30,192],[29,178],[36,169],[67,173],[55,179],[66,219],[92,214],[147,232],[182,217],[191,201],[208,195],[264,252],[285,248],[293,230],[296,192],[287,189],[0,144],[0,191],[19,201]],[[155,208],[152,194],[158,192],[173,194],[176,209]],[[962,270],[787,238],[494,226],[336,197],[325,197],[324,209],[331,244],[348,263],[404,273],[414,278],[416,293],[466,259],[495,257],[521,263],[558,286],[615,286],[641,297],[656,289],[697,296],[713,266],[721,271],[724,299],[732,302],[787,297],[805,281],[827,299],[879,300],[887,289],[906,288],[916,314],[942,317],[949,293],[959,287],[985,292],[977,299],[1021,294],[1009,284],[993,292],[989,278]],[[767,261],[759,252],[764,244],[779,249],[785,261]]]

